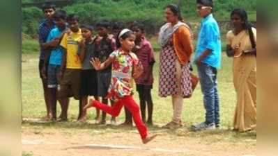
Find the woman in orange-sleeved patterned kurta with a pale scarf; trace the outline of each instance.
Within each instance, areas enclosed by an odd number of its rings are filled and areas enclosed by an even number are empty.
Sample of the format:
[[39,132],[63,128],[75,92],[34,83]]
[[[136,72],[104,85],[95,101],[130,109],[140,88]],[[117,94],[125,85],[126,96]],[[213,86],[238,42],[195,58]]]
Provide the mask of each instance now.
[[160,28],[158,42],[160,53],[159,95],[172,97],[173,118],[162,128],[180,128],[183,98],[192,94],[190,55],[193,51],[191,31],[183,23],[178,6],[170,4],[165,9],[168,23]]

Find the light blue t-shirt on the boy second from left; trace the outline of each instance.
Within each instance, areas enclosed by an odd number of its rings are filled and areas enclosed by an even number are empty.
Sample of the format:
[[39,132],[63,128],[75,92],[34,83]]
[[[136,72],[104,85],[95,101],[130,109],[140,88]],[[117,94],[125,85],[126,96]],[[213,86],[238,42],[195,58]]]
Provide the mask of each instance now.
[[[50,31],[47,42],[54,40],[54,38],[59,37],[61,35],[62,31],[59,30],[59,28],[54,28],[52,31]],[[63,48],[58,45],[55,49],[51,51],[51,55],[49,58],[49,64],[55,64],[55,65],[61,65],[62,62],[62,56],[63,56]]]

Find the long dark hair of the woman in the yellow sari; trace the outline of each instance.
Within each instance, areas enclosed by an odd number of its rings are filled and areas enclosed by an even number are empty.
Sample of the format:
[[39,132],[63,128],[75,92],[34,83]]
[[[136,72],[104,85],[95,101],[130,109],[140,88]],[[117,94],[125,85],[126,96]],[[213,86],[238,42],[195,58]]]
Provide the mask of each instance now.
[[245,9],[243,8],[236,8],[235,10],[233,10],[231,12],[231,17],[233,15],[238,15],[240,17],[240,19],[242,21],[244,21],[244,23],[242,24],[243,28],[245,30],[248,31],[249,33],[249,38],[250,38],[250,41],[251,41],[251,44],[252,44],[252,47],[255,48],[256,47],[256,43],[255,43],[255,40],[254,40],[254,33],[252,31],[252,27],[254,27],[249,21],[248,21],[248,16],[247,16],[247,12],[245,11]]

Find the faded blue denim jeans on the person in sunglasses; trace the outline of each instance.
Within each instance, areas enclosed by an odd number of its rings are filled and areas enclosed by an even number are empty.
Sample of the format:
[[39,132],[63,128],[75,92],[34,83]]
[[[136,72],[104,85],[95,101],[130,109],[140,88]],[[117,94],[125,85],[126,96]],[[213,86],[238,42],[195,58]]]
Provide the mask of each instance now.
[[198,74],[206,109],[206,124],[219,125],[219,96],[217,91],[217,69],[208,64],[198,65]]

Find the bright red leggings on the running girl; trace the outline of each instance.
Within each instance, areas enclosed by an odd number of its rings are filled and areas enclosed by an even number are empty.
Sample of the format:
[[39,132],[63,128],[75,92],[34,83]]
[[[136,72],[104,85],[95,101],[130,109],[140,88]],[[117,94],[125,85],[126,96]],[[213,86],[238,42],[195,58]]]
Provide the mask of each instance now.
[[123,105],[125,105],[125,107],[127,107],[128,110],[131,112],[137,130],[141,135],[141,139],[146,139],[147,128],[146,125],[144,125],[143,121],[141,120],[139,106],[134,101],[132,96],[124,96],[123,98],[118,99],[118,101],[115,102],[112,107],[110,107],[109,105],[102,104],[99,101],[93,101],[93,107],[103,110],[114,117],[120,114]]

